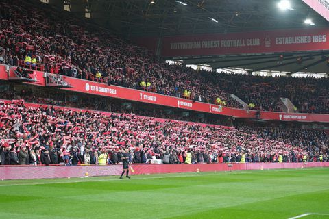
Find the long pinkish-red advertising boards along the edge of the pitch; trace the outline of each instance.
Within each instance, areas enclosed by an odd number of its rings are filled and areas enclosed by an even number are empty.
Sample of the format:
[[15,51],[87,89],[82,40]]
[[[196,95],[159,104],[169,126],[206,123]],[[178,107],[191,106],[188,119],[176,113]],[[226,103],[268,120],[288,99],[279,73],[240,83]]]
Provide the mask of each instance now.
[[[329,162],[304,163],[245,163],[232,164],[231,170],[329,167]],[[175,172],[228,171],[228,164],[134,164],[134,175]],[[122,165],[80,166],[0,166],[0,179],[45,179],[120,175]]]

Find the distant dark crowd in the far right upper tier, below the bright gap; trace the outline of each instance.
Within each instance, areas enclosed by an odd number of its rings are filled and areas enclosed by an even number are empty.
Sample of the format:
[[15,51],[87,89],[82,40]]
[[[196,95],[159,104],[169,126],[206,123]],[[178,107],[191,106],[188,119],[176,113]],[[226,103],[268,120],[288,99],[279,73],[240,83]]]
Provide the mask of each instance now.
[[281,111],[280,97],[287,97],[296,112],[329,113],[329,79],[293,77],[256,77],[248,75],[216,74],[222,89],[236,94],[247,104],[254,103],[260,110]]

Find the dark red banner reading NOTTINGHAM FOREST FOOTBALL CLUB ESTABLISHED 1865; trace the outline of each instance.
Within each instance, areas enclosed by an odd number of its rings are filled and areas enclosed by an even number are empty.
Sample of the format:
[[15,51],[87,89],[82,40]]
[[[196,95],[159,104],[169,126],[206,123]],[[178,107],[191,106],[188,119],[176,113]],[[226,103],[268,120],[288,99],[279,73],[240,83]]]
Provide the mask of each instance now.
[[328,37],[328,28],[168,36],[162,40],[162,56],[321,51],[329,49]]

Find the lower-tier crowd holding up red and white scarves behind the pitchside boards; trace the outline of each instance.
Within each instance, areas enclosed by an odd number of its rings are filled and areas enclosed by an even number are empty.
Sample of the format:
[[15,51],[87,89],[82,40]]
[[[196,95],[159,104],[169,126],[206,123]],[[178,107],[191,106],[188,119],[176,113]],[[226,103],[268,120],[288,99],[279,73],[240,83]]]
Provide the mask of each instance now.
[[[304,138],[308,136],[308,138]],[[303,138],[302,138],[303,137]],[[0,102],[1,164],[302,162],[328,159],[319,131],[201,125],[134,114]],[[191,157],[186,160],[186,157]]]

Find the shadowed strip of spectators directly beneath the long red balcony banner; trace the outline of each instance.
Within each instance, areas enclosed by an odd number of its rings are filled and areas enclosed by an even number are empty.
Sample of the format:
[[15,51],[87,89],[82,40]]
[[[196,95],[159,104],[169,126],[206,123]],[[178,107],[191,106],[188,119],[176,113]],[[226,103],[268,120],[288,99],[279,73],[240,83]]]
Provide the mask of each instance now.
[[[0,91],[0,99],[24,99],[27,103],[75,107],[104,112],[134,113],[140,116],[168,118],[196,123],[230,125],[230,118],[224,118],[218,115],[207,114],[199,116],[197,112],[188,112],[187,114],[186,112],[184,112],[185,114],[182,112],[175,113],[173,110],[164,109],[164,107],[147,107],[143,103],[138,104],[129,101],[124,102],[125,104],[130,104],[129,107],[124,107],[123,102],[115,99],[103,98],[103,96],[67,95],[66,92],[61,92],[60,90],[51,90],[51,92],[49,92],[47,88],[30,90],[29,86],[20,86],[19,90],[15,90],[15,88],[3,89]],[[135,107],[132,107],[132,104],[135,104]]]

